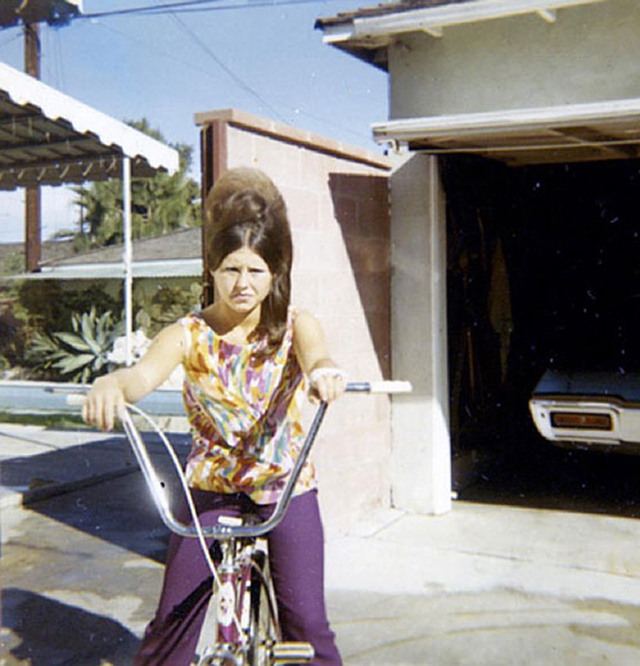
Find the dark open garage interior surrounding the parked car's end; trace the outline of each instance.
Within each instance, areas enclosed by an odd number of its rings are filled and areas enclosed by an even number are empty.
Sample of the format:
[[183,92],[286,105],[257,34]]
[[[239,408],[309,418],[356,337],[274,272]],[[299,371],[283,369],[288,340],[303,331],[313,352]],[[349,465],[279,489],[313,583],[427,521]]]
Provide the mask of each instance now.
[[640,456],[561,449],[528,410],[549,368],[640,371],[640,161],[441,165],[458,496],[640,516]]

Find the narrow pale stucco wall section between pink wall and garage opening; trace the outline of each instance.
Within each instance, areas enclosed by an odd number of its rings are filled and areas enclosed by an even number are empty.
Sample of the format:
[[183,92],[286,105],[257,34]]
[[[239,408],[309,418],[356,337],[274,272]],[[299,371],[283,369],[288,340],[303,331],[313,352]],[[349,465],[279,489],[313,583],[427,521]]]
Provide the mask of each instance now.
[[[397,156],[391,176],[394,371],[413,392],[393,405],[394,506],[451,508],[446,209],[437,158]],[[416,297],[419,295],[419,297]]]

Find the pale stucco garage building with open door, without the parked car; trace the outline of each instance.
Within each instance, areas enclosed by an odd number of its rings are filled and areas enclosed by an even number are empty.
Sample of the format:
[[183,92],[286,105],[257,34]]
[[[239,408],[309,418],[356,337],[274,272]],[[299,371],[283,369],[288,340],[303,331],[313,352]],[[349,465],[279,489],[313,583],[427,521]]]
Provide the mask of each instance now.
[[396,506],[540,445],[547,367],[640,367],[640,3],[401,0],[322,18],[389,73]]

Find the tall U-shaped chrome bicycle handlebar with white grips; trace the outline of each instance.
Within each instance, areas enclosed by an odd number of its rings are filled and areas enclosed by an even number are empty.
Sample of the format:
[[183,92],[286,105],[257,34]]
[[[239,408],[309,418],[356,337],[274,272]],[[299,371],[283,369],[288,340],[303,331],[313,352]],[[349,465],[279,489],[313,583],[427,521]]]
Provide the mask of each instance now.
[[[406,381],[349,382],[347,383],[346,387],[346,391],[349,393],[398,394],[398,393],[410,393],[411,390],[412,390],[411,383]],[[81,406],[84,403],[85,399],[86,397],[83,394],[71,393],[67,396],[67,403],[70,405]],[[327,406],[328,405],[326,402],[321,402],[318,405],[318,409],[316,410],[313,421],[309,426],[309,431],[307,432],[304,444],[302,445],[300,453],[293,466],[293,470],[291,471],[291,474],[287,479],[287,484],[282,492],[282,495],[276,502],[275,509],[271,514],[271,516],[269,516],[269,518],[266,521],[260,523],[259,525],[218,524],[218,525],[211,525],[208,527],[201,527],[201,534],[205,538],[213,538],[218,540],[233,539],[238,537],[256,538],[263,536],[264,534],[267,534],[278,525],[278,523],[282,520],[282,517],[284,516],[284,513],[289,505],[296,482],[298,481],[298,477],[300,476],[300,472],[302,471],[302,467],[304,466],[309,456],[311,447],[313,446],[318,431],[320,430],[320,425],[322,424],[322,420],[324,419],[325,413],[327,411]],[[133,452],[136,456],[136,460],[138,461],[140,469],[142,470],[142,474],[145,478],[147,486],[151,491],[151,496],[156,505],[156,508],[158,509],[158,512],[160,513],[162,522],[172,532],[180,536],[198,537],[199,536],[198,528],[196,528],[195,525],[186,525],[185,523],[182,523],[171,512],[169,501],[167,499],[166,491],[164,488],[164,483],[159,479],[158,475],[156,474],[155,468],[153,466],[153,463],[151,462],[151,458],[149,457],[149,453],[144,444],[144,441],[140,436],[138,428],[133,422],[130,410],[135,410],[143,415],[144,412],[142,412],[142,410],[139,410],[138,408],[132,405],[129,405],[122,419],[122,425],[127,435],[127,439],[131,444],[131,448],[133,449]],[[175,464],[177,462],[177,459],[175,458],[175,452],[173,451],[173,448],[169,444],[164,434],[159,429],[158,429],[158,434],[161,435],[165,445],[168,447],[167,450],[170,453],[170,455],[172,455]],[[177,465],[178,465],[177,468],[180,469],[179,463],[177,463]],[[186,482],[184,480],[184,476],[181,473],[181,470],[180,470],[180,481],[181,484],[183,485],[183,490],[188,493],[188,488],[186,486]]]

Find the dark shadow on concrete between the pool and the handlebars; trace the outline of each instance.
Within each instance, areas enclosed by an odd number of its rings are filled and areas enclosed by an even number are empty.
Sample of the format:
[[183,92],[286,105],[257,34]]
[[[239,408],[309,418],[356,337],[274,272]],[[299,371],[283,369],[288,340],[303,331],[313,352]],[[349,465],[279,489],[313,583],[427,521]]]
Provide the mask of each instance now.
[[[159,477],[179,499],[177,477],[157,436],[145,434]],[[188,435],[171,442],[184,463]],[[30,511],[138,555],[164,562],[169,530],[162,523],[135,459],[122,439],[70,446],[5,460],[3,487],[24,489]],[[174,502],[175,504],[175,502]]]

